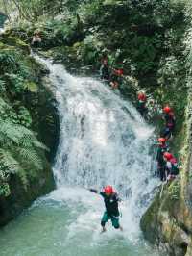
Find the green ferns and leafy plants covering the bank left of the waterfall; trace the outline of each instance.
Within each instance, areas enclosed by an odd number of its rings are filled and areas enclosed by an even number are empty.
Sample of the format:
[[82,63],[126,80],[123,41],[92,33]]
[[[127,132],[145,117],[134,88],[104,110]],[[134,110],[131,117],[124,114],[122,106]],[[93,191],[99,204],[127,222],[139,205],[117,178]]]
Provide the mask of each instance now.
[[0,196],[9,196],[12,175],[27,188],[32,173],[45,167],[48,148],[31,130],[33,95],[42,67],[20,48],[0,47]]

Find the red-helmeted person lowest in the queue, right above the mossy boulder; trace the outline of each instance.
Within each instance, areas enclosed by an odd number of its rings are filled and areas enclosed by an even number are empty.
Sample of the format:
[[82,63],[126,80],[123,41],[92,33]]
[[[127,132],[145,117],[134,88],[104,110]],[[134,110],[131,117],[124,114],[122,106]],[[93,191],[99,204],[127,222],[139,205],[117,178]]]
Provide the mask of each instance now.
[[176,158],[169,152],[164,152],[163,158],[166,162],[165,171],[167,181],[172,181],[179,174],[179,166]]

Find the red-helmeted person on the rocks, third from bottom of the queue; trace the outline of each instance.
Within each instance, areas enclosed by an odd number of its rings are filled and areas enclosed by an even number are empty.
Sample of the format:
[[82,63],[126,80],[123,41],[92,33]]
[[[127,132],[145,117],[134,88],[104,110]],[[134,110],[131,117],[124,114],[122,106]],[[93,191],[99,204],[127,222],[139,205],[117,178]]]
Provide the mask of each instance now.
[[163,108],[165,127],[161,132],[161,136],[170,139],[173,136],[173,132],[176,125],[176,118],[172,109],[167,105]]

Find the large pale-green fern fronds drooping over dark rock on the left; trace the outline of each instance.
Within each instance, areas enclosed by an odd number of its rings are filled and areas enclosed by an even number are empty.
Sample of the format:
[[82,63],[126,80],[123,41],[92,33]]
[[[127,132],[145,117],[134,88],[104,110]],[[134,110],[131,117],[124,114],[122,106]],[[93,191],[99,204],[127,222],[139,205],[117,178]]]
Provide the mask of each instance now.
[[[4,104],[1,100],[0,105]],[[48,148],[36,139],[26,127],[0,118],[0,194],[9,195],[9,184],[5,182],[11,173],[17,174],[24,186],[28,186],[27,170],[42,170],[42,151]],[[5,192],[4,192],[5,191]]]

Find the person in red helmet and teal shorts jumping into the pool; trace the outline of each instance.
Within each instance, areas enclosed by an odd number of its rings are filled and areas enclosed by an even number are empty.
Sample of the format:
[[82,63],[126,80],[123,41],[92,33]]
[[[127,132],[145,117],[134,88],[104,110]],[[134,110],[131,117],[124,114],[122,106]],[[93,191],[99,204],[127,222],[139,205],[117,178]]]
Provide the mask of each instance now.
[[[97,190],[90,189],[90,192],[98,193]],[[112,222],[112,226],[116,229],[120,229],[123,231],[123,228],[119,224],[119,208],[118,208],[118,202],[121,201],[121,199],[118,197],[118,194],[114,192],[113,188],[111,186],[106,186],[104,188],[103,192],[99,192],[105,202],[106,211],[103,215],[103,218],[101,220],[101,226],[102,226],[102,232],[106,231],[106,223],[110,219]]]

